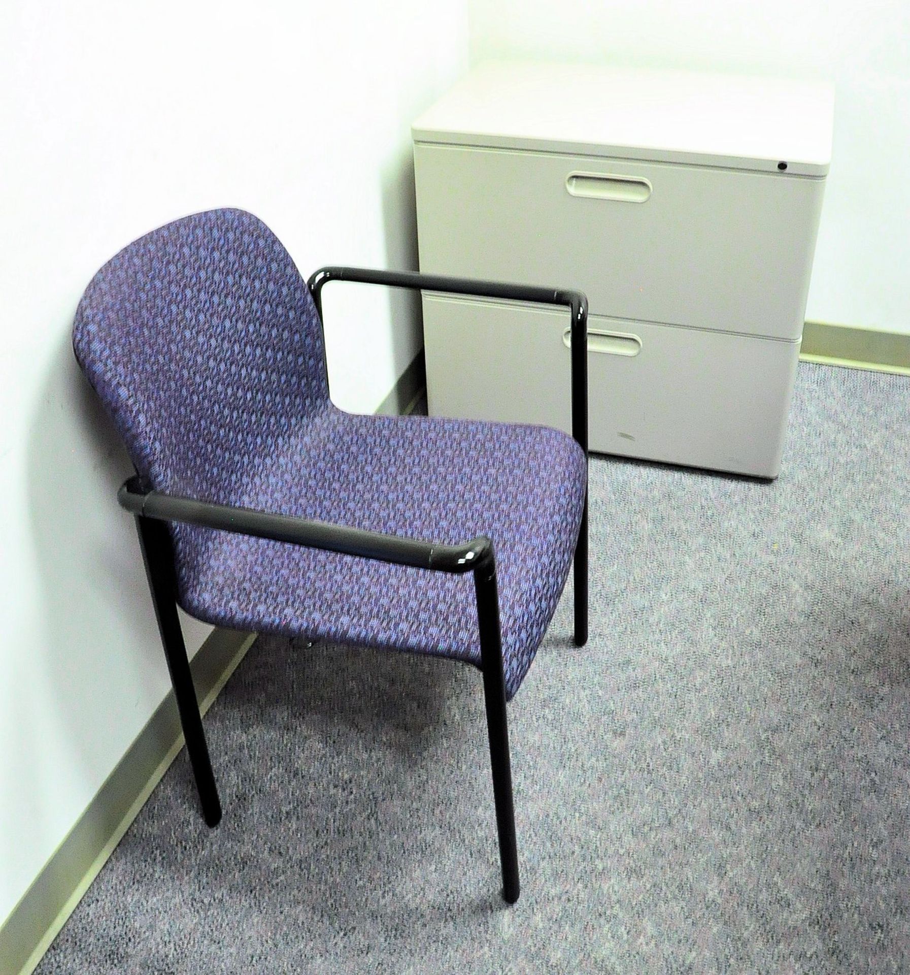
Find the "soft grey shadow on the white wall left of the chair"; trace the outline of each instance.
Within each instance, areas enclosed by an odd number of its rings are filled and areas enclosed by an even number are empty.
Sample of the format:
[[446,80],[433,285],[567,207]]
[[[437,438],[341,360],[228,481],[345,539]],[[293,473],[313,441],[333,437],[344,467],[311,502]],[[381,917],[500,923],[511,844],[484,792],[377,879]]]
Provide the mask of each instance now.
[[[47,699],[45,708],[68,740],[67,778],[77,778],[73,767],[81,769],[94,793],[104,761],[98,739],[116,736],[118,715],[142,708],[143,675],[164,668],[164,660],[160,652],[153,659],[158,637],[132,520],[117,509],[117,488],[132,473],[132,464],[76,365],[70,321],[59,324],[28,428],[28,524],[43,628],[41,686],[31,690],[38,701]],[[99,645],[107,640],[115,643]],[[126,678],[135,686],[132,701],[111,700],[111,673],[119,685]],[[24,695],[18,700],[22,715],[16,726],[25,729],[30,708]],[[146,702],[149,713],[156,703]],[[29,738],[20,745],[34,756],[26,765],[35,778],[23,789],[45,796],[53,779],[39,778],[38,770],[47,764],[42,742]],[[38,800],[39,817],[43,807]]]

